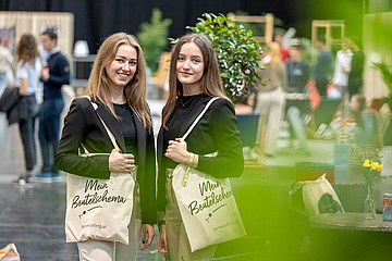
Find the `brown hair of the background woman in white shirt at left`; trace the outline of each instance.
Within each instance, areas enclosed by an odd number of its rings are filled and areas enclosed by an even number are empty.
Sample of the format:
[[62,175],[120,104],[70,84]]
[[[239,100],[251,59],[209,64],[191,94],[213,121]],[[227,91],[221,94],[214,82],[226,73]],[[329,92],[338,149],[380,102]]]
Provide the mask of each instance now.
[[37,42],[33,35],[23,34],[21,40],[16,47],[16,57],[17,62],[23,61],[23,64],[29,62],[35,64],[34,60],[39,57],[37,49]]

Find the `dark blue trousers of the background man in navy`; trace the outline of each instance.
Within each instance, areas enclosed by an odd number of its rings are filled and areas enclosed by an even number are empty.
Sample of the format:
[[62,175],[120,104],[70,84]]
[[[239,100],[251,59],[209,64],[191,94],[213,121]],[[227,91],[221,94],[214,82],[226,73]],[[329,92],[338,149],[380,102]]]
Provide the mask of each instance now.
[[42,154],[41,172],[57,173],[54,156],[60,140],[60,117],[64,108],[62,98],[45,99],[39,111],[39,142]]

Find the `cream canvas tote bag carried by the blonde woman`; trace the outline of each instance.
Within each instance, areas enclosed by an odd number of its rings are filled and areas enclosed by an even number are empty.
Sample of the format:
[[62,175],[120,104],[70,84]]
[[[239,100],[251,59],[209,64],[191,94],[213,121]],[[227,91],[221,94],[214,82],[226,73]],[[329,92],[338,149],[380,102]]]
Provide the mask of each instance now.
[[[93,107],[96,105],[91,102]],[[96,107],[94,107],[96,109]],[[114,136],[102,119],[115,150]],[[82,157],[98,153],[85,152]],[[108,153],[107,153],[108,154]],[[88,239],[120,241],[128,245],[128,224],[132,215],[136,172],[110,173],[109,179],[68,174],[65,235],[66,241]]]

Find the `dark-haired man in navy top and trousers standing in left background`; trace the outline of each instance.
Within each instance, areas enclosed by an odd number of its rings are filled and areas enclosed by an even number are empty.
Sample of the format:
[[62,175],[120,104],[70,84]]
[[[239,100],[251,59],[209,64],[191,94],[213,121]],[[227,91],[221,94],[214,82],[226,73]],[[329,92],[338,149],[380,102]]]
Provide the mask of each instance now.
[[44,49],[49,52],[47,65],[44,65],[44,101],[39,112],[39,142],[42,154],[42,167],[35,177],[37,182],[51,183],[62,179],[53,158],[59,147],[60,116],[64,107],[61,87],[70,84],[70,65],[57,46],[58,37],[52,30],[41,35]]

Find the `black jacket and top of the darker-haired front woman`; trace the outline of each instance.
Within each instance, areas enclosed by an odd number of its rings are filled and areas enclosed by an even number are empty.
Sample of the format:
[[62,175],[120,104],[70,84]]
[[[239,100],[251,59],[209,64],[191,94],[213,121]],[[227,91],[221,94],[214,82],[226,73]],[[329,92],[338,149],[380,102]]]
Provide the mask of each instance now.
[[[160,211],[166,209],[166,167],[177,164],[172,164],[164,157],[168,142],[175,136],[175,138],[182,137],[211,99],[207,95],[184,98],[179,99],[177,105],[168,121],[169,130],[161,127],[158,135],[157,207]],[[183,104],[184,107],[182,107]],[[220,178],[238,177],[243,174],[244,157],[237,120],[231,101],[223,98],[213,101],[185,141],[187,150],[199,157],[197,170]],[[205,157],[205,154],[217,151],[218,156],[215,158]]]

